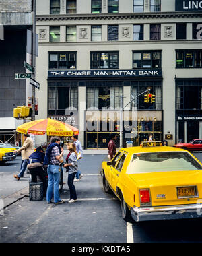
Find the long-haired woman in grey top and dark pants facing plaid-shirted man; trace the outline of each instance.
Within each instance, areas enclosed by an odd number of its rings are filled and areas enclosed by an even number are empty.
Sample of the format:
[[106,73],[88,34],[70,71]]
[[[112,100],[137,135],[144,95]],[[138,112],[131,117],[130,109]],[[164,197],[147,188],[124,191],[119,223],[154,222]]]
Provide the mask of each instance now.
[[69,172],[68,186],[70,191],[70,199],[68,203],[75,203],[75,201],[77,201],[77,193],[75,186],[73,185],[73,180],[75,178],[75,174],[78,171],[77,152],[73,143],[67,144],[67,150],[69,150],[69,154],[67,155],[66,164],[64,167],[67,168],[67,171]]

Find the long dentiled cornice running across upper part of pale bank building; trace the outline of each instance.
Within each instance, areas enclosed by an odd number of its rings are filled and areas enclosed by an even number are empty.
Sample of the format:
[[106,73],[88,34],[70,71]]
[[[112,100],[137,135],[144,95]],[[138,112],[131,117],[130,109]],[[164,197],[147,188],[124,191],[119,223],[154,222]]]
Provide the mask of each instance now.
[[160,13],[100,13],[100,14],[74,14],[74,15],[36,15],[36,21],[61,21],[61,20],[133,20],[156,18],[200,18],[202,11],[187,12],[160,12]]

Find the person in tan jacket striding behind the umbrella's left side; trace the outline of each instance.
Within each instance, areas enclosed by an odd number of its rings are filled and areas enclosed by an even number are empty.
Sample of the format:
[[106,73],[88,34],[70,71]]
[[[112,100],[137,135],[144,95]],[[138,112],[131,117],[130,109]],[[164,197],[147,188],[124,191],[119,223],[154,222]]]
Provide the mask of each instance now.
[[18,150],[13,151],[13,153],[20,153],[22,154],[22,164],[20,168],[20,173],[18,175],[14,175],[14,178],[18,181],[20,178],[24,176],[24,172],[28,166],[29,156],[34,152],[34,143],[30,138],[30,135],[24,134],[24,144]]

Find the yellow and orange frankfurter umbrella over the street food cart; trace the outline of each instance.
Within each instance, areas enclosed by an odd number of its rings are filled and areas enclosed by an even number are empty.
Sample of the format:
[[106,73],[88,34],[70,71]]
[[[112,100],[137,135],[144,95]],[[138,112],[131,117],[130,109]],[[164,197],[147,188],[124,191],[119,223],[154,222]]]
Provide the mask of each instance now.
[[23,125],[18,126],[16,131],[19,133],[32,133],[36,135],[44,135],[47,133],[48,136],[73,136],[79,134],[77,128],[50,118],[24,123]]

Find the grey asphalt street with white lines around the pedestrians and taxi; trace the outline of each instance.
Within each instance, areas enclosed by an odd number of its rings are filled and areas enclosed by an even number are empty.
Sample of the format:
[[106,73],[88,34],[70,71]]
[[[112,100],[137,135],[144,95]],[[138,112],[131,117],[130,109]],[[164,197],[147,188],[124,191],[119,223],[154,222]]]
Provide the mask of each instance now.
[[[202,162],[202,154],[195,154]],[[21,158],[0,166],[1,199],[10,197],[15,203],[0,215],[0,243],[67,242],[67,243],[134,243],[202,242],[202,219],[138,222],[129,224],[121,216],[119,200],[102,189],[100,168],[106,154],[88,154],[79,162],[83,173],[75,183],[77,203],[69,204],[67,174],[64,174],[62,205],[46,201],[29,201],[28,178],[16,181]],[[15,193],[18,192],[18,193]],[[19,199],[20,198],[20,199]]]

